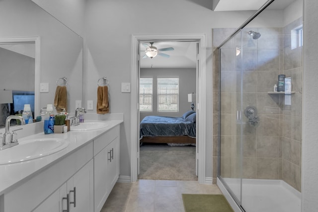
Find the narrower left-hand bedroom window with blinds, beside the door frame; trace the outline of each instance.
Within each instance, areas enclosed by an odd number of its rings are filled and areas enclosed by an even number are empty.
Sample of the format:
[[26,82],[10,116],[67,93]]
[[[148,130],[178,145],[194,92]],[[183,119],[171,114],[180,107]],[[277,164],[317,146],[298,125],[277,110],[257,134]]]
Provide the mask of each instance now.
[[153,111],[153,78],[139,79],[139,110]]

